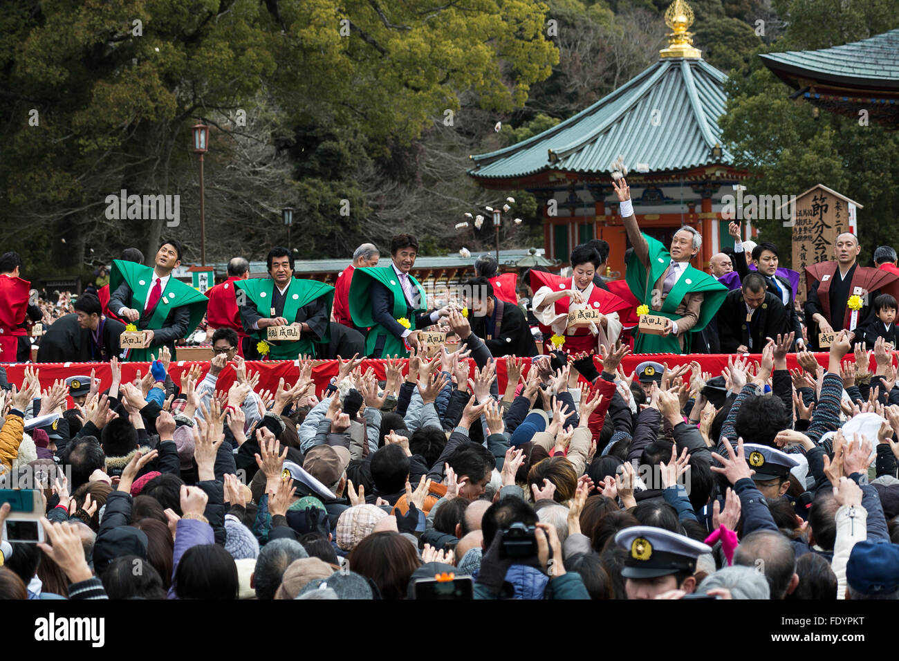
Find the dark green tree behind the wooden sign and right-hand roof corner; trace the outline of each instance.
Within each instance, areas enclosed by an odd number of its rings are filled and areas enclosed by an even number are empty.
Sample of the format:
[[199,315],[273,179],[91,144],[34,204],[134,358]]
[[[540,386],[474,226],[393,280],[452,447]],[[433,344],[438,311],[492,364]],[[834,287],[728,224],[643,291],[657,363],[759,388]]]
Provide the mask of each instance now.
[[[770,50],[820,49],[866,39],[899,26],[899,17],[875,0],[795,0],[775,3],[788,21]],[[872,9],[872,5],[876,5]],[[764,52],[764,48],[759,52]],[[727,112],[718,119],[723,138],[736,155],[734,165],[749,171],[746,193],[798,194],[816,183],[864,205],[859,210],[862,259],[874,247],[895,245],[895,209],[899,208],[899,136],[876,125],[791,101],[793,90],[752,58],[726,87]],[[789,246],[791,230],[778,220],[754,223],[760,236]],[[783,258],[790,262],[789,251]]]

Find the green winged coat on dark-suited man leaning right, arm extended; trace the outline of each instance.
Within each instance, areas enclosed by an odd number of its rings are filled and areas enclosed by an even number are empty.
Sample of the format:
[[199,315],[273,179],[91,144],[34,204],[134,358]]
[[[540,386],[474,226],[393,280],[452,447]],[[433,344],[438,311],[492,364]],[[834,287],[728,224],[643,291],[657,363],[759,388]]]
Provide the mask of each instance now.
[[393,299],[392,314],[395,319],[406,318],[409,321],[409,329],[415,330],[415,317],[427,312],[427,296],[419,281],[415,280],[412,275],[409,281],[418,291],[419,308],[409,307],[403,292],[403,285],[400,284],[399,278],[391,264],[387,266],[369,266],[366,268],[356,269],[352,272],[352,282],[350,284],[350,317],[352,323],[360,328],[369,328],[369,335],[365,338],[365,353],[369,356],[375,351],[378,341],[383,338],[384,348],[381,351],[381,357],[397,355],[405,358],[409,355],[409,351],[405,348],[405,342],[402,337],[394,335],[387,326],[382,326],[375,320],[374,311],[371,307],[370,289],[372,282],[380,282],[387,287]]

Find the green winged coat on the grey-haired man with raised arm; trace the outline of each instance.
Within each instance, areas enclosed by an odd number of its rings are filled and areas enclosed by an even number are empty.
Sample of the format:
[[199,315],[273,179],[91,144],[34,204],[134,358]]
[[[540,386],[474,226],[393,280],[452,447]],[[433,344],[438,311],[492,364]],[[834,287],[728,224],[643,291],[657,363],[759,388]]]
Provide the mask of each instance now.
[[[671,264],[672,255],[663,246],[661,241],[655,240],[653,237],[643,235],[646,240],[649,255],[649,277],[646,277],[646,268],[640,263],[636,253],[630,255],[628,260],[628,272],[625,276],[628,287],[634,292],[634,296],[641,303],[649,306],[650,313],[660,317],[668,317],[677,321],[680,316],[675,314],[678,306],[681,305],[683,297],[689,293],[704,294],[702,306],[699,308],[699,320],[696,326],[690,329],[690,332],[700,331],[706,327],[709,320],[715,316],[721,303],[724,302],[727,295],[727,288],[715,280],[711,275],[699,271],[692,264],[687,266],[687,270],[681,274],[681,278],[668,292],[665,297],[661,309],[653,306],[653,290],[652,287]],[[636,339],[634,344],[634,353],[681,353],[681,343],[678,341],[677,335],[649,335],[641,334],[635,329]],[[685,349],[690,351],[690,335],[687,335],[685,341]]]

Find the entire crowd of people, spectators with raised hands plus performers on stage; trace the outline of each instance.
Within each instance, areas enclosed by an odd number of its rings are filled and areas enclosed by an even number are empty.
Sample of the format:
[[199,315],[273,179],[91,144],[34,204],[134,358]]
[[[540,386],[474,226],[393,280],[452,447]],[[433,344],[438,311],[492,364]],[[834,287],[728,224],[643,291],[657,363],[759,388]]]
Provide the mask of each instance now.
[[[206,296],[172,277],[175,241],[152,267],[116,260],[46,344],[109,362],[111,382],[0,375],[0,479],[38,488],[43,531],[2,542],[0,597],[899,598],[895,273],[859,266],[841,235],[807,273],[806,326],[776,246],[725,255],[737,276],[719,255],[699,272],[695,230],[666,249],[616,190],[626,280],[598,276],[601,245],[577,246],[571,276],[528,274],[526,309],[485,259],[461,305],[429,308],[408,235],[386,267],[360,246],[336,288],[293,277],[280,247],[269,278],[235,258]],[[0,258],[11,295],[15,259]],[[639,332],[646,314],[659,333]],[[214,357],[173,374],[204,316]],[[122,353],[126,330],[143,335]],[[4,353],[21,336],[0,334]],[[738,343],[720,375],[621,367],[711,336]],[[260,357],[297,363],[270,391]],[[338,364],[324,388],[323,357]],[[123,360],[147,373],[124,380]]]

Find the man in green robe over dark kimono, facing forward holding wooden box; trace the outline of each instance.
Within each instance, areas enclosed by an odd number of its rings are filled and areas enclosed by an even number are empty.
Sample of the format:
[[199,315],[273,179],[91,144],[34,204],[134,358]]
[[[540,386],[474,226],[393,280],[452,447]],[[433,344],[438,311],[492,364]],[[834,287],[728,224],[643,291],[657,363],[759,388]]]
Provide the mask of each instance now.
[[[316,355],[316,343],[330,338],[328,322],[334,303],[334,287],[293,277],[293,255],[281,246],[271,248],[266,259],[270,278],[234,282],[237,308],[246,335],[254,338],[251,350],[263,347],[273,361],[295,361],[300,353]],[[295,326],[298,340],[269,340],[268,328]],[[254,355],[247,354],[248,360]]]

